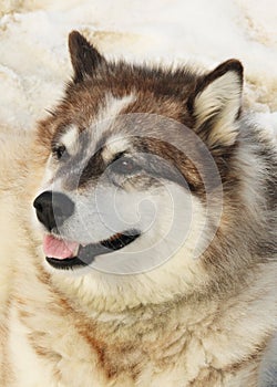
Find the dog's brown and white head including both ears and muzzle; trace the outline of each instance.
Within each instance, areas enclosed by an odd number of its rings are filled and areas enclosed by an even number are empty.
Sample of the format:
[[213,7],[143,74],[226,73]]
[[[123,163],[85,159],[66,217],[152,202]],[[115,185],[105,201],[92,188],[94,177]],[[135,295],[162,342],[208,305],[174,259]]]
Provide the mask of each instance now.
[[39,128],[48,264],[126,274],[199,257],[220,222],[240,63],[207,75],[109,63],[76,32],[70,53],[73,81]]

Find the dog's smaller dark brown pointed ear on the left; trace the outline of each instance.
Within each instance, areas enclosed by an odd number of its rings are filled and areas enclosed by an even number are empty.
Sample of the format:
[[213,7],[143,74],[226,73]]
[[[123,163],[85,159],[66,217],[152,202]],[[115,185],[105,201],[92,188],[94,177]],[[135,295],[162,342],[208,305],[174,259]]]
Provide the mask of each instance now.
[[85,76],[92,75],[94,70],[105,62],[98,50],[78,31],[69,34],[69,51],[74,70],[74,83],[82,82]]

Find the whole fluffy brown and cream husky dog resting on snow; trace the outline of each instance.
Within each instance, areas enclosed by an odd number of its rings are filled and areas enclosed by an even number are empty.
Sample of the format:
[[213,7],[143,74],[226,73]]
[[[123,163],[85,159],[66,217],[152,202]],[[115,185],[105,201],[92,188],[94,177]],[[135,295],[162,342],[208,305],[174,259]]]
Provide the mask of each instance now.
[[69,48],[63,100],[1,134],[1,386],[267,386],[277,156],[240,62]]

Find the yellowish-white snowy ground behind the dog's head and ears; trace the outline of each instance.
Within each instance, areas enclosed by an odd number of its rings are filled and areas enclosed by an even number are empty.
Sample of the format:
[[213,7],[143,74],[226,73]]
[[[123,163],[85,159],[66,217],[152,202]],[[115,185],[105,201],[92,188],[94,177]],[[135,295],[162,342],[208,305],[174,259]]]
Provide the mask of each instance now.
[[276,20],[276,0],[0,0],[0,125],[31,128],[59,98],[76,29],[110,57],[242,60],[246,104],[277,130]]

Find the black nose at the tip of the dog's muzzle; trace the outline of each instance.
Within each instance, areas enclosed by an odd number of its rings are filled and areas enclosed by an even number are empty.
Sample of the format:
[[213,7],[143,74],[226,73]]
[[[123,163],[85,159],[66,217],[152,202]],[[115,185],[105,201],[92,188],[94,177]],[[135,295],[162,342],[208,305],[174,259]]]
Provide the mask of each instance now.
[[62,226],[64,220],[74,212],[74,203],[65,195],[60,192],[42,192],[33,202],[39,221],[51,231]]

